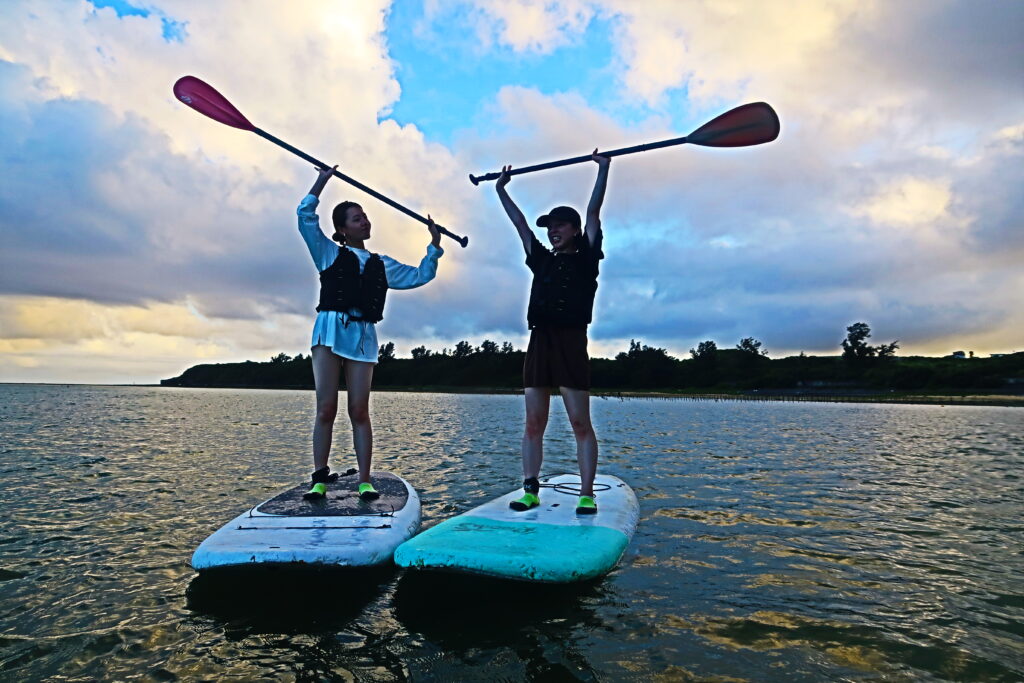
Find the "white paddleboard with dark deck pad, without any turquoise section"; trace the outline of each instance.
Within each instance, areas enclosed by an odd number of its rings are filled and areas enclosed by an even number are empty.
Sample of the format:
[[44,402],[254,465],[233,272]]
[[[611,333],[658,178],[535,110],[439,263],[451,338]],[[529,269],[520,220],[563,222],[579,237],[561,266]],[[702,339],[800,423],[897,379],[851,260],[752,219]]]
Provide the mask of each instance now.
[[373,472],[380,493],[361,501],[354,474],[328,484],[327,498],[306,501],[309,484],[274,496],[213,532],[193,554],[197,570],[251,565],[373,566],[420,528],[420,497],[408,481]]

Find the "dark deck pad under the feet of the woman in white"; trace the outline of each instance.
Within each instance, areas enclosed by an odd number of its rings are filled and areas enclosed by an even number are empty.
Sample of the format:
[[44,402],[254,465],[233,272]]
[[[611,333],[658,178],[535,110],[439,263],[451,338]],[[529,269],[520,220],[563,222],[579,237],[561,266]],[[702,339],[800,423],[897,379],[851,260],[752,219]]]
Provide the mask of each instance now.
[[387,472],[375,472],[371,482],[381,495],[374,501],[359,498],[358,475],[349,474],[327,484],[327,498],[324,500],[307,501],[302,498],[309,490],[309,484],[302,483],[256,506],[256,512],[288,517],[358,517],[396,512],[406,507],[409,492],[401,479]]

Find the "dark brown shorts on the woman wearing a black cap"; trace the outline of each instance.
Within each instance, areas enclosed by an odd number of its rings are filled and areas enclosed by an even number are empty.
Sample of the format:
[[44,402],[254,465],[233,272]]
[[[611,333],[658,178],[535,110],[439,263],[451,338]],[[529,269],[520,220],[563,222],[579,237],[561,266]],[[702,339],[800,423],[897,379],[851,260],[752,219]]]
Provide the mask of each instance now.
[[590,389],[586,328],[534,328],[522,366],[524,387]]

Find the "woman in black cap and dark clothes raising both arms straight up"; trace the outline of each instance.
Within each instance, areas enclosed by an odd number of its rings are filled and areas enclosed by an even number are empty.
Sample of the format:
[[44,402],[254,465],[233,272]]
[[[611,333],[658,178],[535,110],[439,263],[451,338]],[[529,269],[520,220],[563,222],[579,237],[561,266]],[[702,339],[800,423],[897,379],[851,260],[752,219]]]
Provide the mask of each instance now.
[[[551,388],[558,387],[577,440],[580,464],[580,501],[577,513],[594,514],[594,475],[597,473],[597,436],[590,421],[590,357],[587,326],[590,325],[597,292],[601,253],[601,204],[608,184],[611,160],[594,150],[597,180],[587,206],[587,224],[567,206],[555,207],[537,219],[548,229],[549,250],[526,224],[519,207],[509,197],[511,166],[502,168],[496,187],[505,213],[515,225],[526,250],[526,265],[534,272],[529,291],[529,346],[523,365],[526,396],[526,429],[522,437],[524,495],[513,501],[513,510],[529,510],[541,504],[541,464],[544,461],[544,430],[548,426]],[[583,227],[583,229],[581,229]]]

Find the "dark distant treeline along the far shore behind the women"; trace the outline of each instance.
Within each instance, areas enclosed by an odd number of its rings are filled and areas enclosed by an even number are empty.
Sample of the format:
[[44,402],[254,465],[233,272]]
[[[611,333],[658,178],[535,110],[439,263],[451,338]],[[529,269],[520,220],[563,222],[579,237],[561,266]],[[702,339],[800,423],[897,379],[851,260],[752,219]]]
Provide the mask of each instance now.
[[[690,349],[689,357],[676,358],[664,348],[633,341],[629,350],[614,358],[591,359],[593,386],[612,391],[1024,392],[1024,352],[989,358],[897,357],[896,342],[881,346],[865,343],[870,336],[866,325],[858,323],[847,330],[843,354],[837,356],[801,353],[773,359],[761,350],[761,342],[746,338],[731,349],[701,342]],[[508,342],[484,341],[474,347],[461,341],[441,351],[420,346],[413,349],[411,358],[398,358],[394,345],[388,343],[381,347],[374,387],[518,389],[522,387],[524,356]],[[280,353],[266,362],[196,366],[161,384],[312,388],[313,377],[309,356]]]

